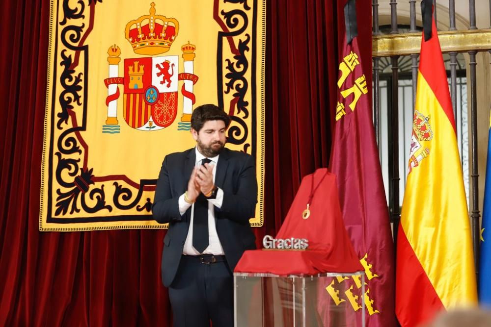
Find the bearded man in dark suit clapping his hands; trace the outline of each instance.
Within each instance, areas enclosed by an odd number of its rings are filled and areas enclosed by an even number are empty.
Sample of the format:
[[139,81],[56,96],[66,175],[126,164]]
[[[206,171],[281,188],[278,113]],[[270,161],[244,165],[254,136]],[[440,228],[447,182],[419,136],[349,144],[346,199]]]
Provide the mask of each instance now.
[[249,218],[255,214],[254,158],[224,148],[230,117],[213,104],[194,109],[196,147],[168,154],[152,212],[169,223],[162,281],[169,289],[174,326],[234,325],[233,275],[245,250],[255,249]]

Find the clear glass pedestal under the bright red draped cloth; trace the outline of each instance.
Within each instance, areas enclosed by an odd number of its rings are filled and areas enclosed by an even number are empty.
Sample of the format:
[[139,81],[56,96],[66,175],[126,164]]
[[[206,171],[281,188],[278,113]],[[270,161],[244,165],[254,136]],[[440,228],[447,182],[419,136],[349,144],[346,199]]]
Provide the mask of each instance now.
[[364,327],[364,275],[234,273],[235,327]]

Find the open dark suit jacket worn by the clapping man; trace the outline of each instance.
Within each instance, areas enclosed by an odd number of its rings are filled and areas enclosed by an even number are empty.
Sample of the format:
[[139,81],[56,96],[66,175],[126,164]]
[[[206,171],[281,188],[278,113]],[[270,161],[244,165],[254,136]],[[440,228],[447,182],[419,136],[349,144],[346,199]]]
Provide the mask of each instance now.
[[[162,282],[169,286],[177,272],[191,221],[191,207],[181,216],[179,197],[186,192],[196,161],[194,148],[165,156],[157,181],[154,219],[169,223],[162,252]],[[249,225],[257,202],[257,181],[252,156],[224,148],[218,158],[215,185],[223,190],[221,208],[215,207],[216,227],[228,266],[233,271],[245,250],[255,249]]]

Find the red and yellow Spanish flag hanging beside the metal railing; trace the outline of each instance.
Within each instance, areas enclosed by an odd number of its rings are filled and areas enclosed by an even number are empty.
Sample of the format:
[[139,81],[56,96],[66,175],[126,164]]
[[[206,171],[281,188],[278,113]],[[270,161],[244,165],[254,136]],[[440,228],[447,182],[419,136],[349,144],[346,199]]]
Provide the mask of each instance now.
[[477,302],[455,120],[435,22],[432,25],[432,37],[421,42],[397,239],[396,314],[403,327]]

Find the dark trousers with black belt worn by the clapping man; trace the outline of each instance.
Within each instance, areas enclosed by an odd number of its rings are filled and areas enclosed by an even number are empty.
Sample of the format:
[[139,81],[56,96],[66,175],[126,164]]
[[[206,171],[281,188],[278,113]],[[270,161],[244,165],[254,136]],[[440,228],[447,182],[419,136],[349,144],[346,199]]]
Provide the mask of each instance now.
[[183,255],[169,286],[174,327],[234,326],[233,275],[225,261]]

